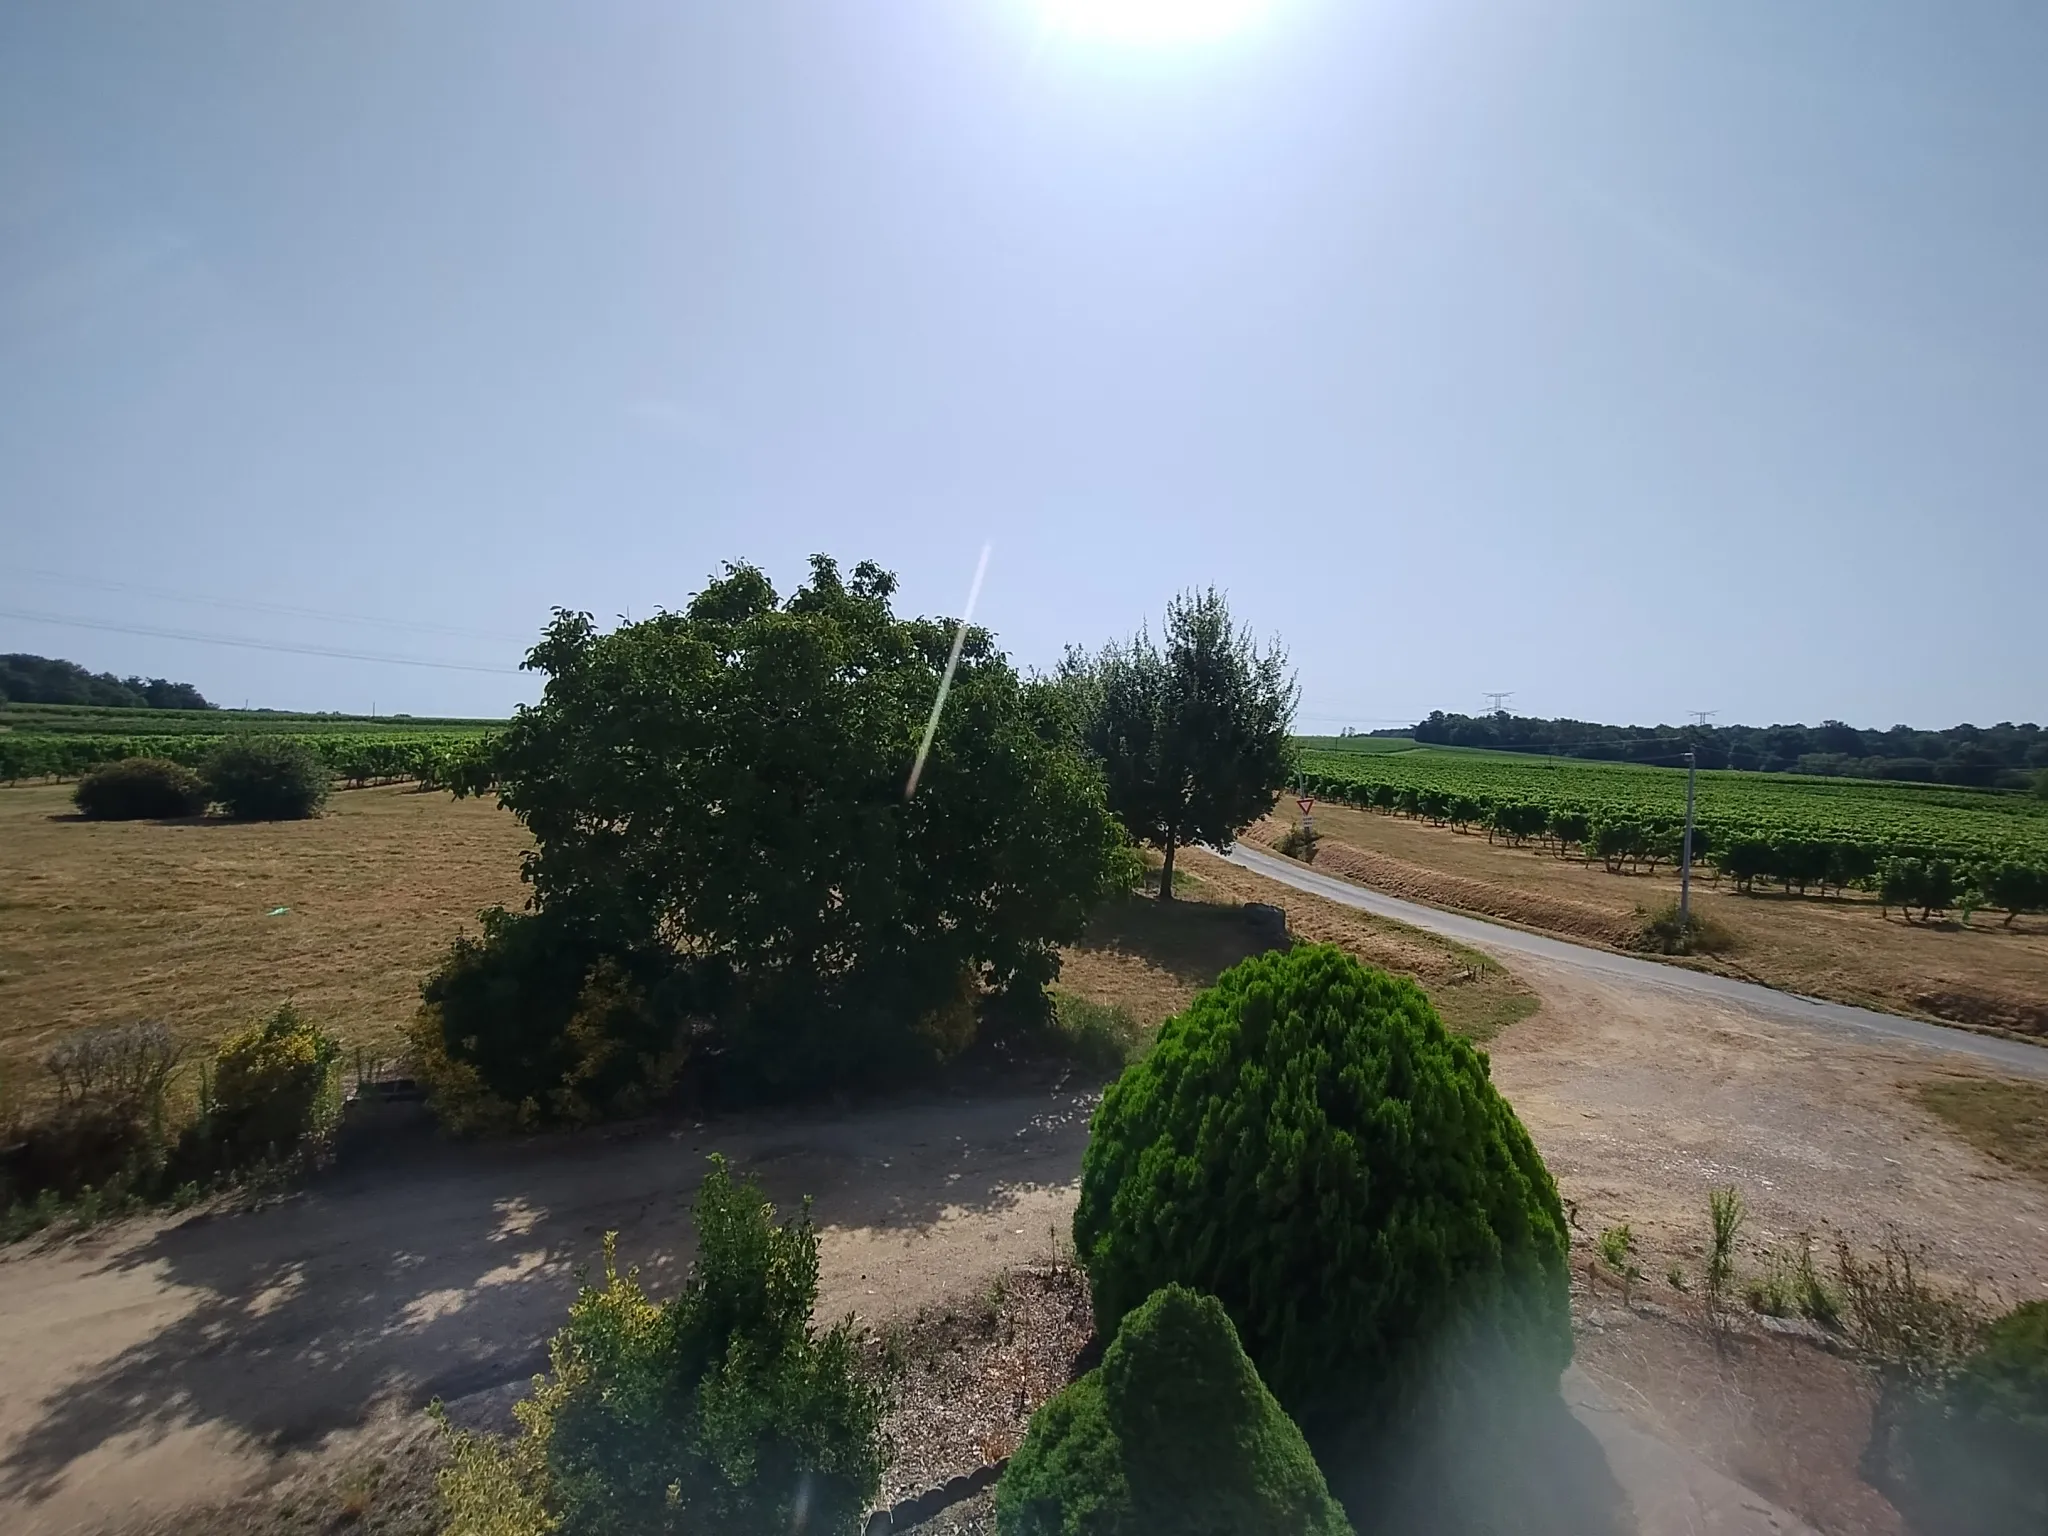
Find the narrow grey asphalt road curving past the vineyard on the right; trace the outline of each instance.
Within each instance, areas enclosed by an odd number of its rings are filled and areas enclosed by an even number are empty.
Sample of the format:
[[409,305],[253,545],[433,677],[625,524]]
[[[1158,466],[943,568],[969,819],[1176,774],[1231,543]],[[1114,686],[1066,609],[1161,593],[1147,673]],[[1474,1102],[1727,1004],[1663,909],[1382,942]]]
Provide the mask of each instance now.
[[1946,1057],[1968,1057],[1978,1065],[1999,1071],[2048,1079],[2048,1049],[2030,1044],[2028,1040],[2007,1040],[1997,1034],[1972,1034],[1970,1030],[1944,1028],[1942,1024],[1923,1024],[1917,1018],[1878,1014],[1870,1008],[1829,1004],[1819,997],[1800,997],[1798,993],[1761,987],[1755,981],[1737,981],[1735,977],[1712,975],[1708,971],[1688,971],[1679,965],[1638,961],[1632,954],[1616,954],[1614,950],[1599,950],[1587,944],[1571,944],[1563,938],[1528,934],[1520,928],[1503,928],[1481,918],[1466,918],[1456,911],[1440,911],[1438,907],[1423,907],[1401,897],[1380,895],[1364,885],[1321,874],[1296,864],[1292,858],[1280,858],[1247,844],[1237,844],[1223,858],[1307,895],[1372,911],[1380,918],[1393,918],[1413,928],[1425,928],[1432,934],[1454,938],[1460,944],[1470,944],[1491,954],[1524,954],[1608,981],[1663,987],[1688,997],[1731,1004],[1786,1024],[1802,1024],[1837,1034],[1860,1034],[1888,1044],[1919,1047],[1921,1051]]

